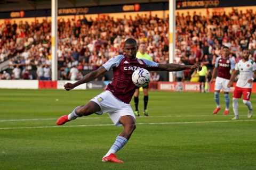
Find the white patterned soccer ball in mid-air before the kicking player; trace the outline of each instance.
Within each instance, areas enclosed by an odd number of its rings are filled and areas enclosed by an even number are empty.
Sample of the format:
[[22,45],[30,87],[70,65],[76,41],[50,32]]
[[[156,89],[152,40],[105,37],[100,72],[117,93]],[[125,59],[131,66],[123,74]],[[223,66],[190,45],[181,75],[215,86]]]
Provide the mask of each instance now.
[[135,70],[132,74],[133,83],[138,86],[147,86],[150,81],[150,73],[146,69]]

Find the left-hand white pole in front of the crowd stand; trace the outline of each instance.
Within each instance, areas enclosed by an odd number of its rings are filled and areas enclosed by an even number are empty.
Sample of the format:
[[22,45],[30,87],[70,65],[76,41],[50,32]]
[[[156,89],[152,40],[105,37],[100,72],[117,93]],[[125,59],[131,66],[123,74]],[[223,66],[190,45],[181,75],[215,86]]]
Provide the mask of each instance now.
[[58,79],[58,32],[57,32],[57,17],[58,17],[58,0],[52,0],[52,80]]

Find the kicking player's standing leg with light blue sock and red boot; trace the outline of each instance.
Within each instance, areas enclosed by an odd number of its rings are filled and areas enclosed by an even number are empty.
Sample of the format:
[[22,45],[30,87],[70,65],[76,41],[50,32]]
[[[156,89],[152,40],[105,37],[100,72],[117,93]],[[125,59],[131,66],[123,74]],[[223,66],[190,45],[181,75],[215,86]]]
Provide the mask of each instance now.
[[131,115],[122,116],[119,123],[123,125],[123,131],[116,137],[116,140],[107,152],[107,154],[102,158],[102,162],[115,162],[123,163],[122,160],[116,158],[116,152],[122,149],[128,140],[130,139],[133,131],[135,130],[135,118]]

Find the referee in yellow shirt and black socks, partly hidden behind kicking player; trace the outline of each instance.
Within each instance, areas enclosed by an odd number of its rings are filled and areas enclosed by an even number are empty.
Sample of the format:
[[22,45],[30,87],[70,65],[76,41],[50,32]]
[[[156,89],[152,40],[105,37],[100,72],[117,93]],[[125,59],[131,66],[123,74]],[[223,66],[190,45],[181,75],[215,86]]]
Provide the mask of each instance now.
[[[146,59],[146,60],[149,60],[149,61],[153,61],[152,58],[146,53],[146,44],[145,43],[140,43],[139,51],[137,52],[136,57],[139,58],[139,59]],[[148,110],[147,110],[147,105],[148,105],[148,85],[145,86],[145,87],[142,87],[142,88],[143,88],[143,93],[144,93],[144,98],[143,98],[143,100],[144,100],[144,110],[143,110],[143,114],[145,116],[148,116]],[[135,89],[135,92],[134,92],[134,104],[135,104],[134,114],[136,116],[140,116],[139,109],[138,109],[138,106],[139,106],[139,95],[140,95],[140,91],[139,91],[139,87],[137,87]]]

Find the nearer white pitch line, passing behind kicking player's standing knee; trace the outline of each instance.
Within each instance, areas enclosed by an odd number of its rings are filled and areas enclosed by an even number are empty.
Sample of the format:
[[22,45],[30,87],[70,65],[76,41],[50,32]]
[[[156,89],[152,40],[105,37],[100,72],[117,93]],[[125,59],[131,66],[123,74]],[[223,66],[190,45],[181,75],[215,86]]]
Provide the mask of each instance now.
[[[256,120],[196,121],[196,122],[152,122],[152,123],[137,123],[137,125],[229,123],[229,122],[253,122],[253,121],[256,121]],[[43,129],[43,128],[77,128],[77,127],[93,127],[93,126],[114,126],[114,125],[113,124],[85,124],[85,125],[66,125],[66,126],[28,126],[28,127],[0,128],[0,130]]]

